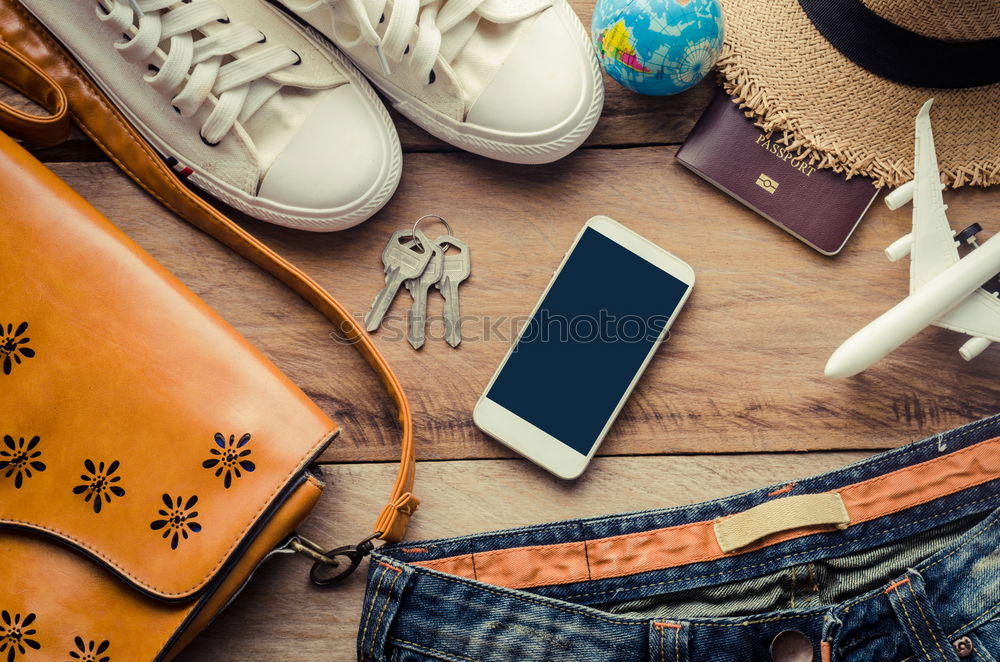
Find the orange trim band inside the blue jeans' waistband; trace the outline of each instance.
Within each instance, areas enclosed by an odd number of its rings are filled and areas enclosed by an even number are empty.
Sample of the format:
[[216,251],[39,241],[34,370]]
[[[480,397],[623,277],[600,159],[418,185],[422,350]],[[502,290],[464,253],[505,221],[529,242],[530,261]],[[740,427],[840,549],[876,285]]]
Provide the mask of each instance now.
[[[835,491],[854,526],[1000,478],[998,451],[1000,437]],[[835,529],[812,526],[782,531],[727,554],[719,547],[714,524],[711,520],[693,522],[580,542],[415,561],[414,565],[508,588],[554,586],[713,561]]]

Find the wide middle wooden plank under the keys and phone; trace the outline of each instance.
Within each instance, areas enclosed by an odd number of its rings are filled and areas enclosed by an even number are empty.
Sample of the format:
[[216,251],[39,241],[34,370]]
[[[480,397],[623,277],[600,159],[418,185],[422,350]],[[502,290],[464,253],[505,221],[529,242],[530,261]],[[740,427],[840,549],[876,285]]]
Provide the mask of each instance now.
[[[466,340],[457,350],[440,340],[439,317],[424,349],[410,348],[405,294],[375,334],[409,391],[421,458],[509,455],[473,427],[470,412],[573,236],[597,213],[675,251],[698,273],[672,340],[602,453],[881,448],[997,410],[1000,350],[967,364],[955,351],[962,339],[938,329],[858,378],[822,375],[840,342],[905,294],[906,265],[888,263],[881,251],[909,231],[908,212],[876,204],[845,252],[828,258],[678,166],[673,154],[669,147],[588,150],[544,169],[416,154],[392,202],[354,229],[318,235],[246,224],[358,319],[381,286],[378,256],[392,231],[438,213],[471,245],[473,276],[462,286]],[[327,459],[396,457],[387,399],[308,306],[170,217],[110,164],[56,170],[343,423]],[[997,199],[983,190],[946,197],[956,227],[988,217]],[[430,314],[441,315],[437,296]]]

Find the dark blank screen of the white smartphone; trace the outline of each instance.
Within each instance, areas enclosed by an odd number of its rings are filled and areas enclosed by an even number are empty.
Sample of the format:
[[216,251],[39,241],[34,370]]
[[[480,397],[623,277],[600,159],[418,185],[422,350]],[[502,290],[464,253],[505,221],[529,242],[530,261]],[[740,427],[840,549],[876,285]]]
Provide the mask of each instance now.
[[486,397],[586,455],[687,288],[587,228]]

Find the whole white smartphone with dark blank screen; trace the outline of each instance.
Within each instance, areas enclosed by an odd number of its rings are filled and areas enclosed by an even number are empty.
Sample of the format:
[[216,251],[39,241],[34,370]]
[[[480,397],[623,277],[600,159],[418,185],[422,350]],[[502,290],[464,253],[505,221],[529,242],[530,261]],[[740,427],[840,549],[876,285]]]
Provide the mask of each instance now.
[[476,426],[576,478],[693,286],[680,258],[607,216],[590,219],[476,402]]

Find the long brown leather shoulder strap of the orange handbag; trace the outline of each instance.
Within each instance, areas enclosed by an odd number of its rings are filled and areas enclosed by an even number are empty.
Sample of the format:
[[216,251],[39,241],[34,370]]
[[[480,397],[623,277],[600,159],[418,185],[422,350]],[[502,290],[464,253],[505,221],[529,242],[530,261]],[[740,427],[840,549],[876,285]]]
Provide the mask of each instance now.
[[416,466],[413,416],[399,380],[347,309],[303,271],[185,187],[73,58],[15,0],[0,0],[0,81],[52,113],[32,115],[0,103],[0,129],[27,142],[53,145],[69,135],[71,117],[147,193],[287,285],[352,341],[395,400],[403,437],[389,503],[379,513],[370,539],[401,540],[420,504],[411,493]]

